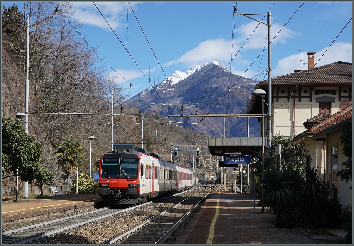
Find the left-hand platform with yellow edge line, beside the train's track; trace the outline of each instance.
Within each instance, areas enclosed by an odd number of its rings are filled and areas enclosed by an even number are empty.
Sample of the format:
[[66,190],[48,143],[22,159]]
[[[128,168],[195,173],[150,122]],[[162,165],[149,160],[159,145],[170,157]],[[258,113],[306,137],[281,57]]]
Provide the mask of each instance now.
[[98,194],[63,194],[29,199],[8,200],[1,203],[2,225],[34,221],[39,218],[49,218],[56,215],[91,209],[103,205]]

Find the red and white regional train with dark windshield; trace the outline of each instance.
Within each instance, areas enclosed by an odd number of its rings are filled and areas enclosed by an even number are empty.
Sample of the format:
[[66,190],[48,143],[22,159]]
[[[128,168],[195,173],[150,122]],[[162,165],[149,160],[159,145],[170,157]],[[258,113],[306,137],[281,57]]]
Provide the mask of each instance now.
[[105,204],[142,204],[192,186],[192,170],[132,144],[114,144],[99,163],[98,194]]

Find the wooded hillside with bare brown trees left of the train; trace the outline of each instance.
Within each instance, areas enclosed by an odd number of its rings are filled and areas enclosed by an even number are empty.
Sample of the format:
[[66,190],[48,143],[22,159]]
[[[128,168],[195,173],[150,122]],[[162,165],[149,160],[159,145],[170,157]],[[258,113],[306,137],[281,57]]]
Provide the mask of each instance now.
[[[27,14],[55,14],[57,6],[61,16],[45,21],[41,21],[44,19],[41,16],[30,19],[31,25],[41,22],[30,28],[28,131],[36,141],[43,143],[41,162],[54,174],[52,183],[61,184],[65,180],[66,170],[58,167],[53,153],[64,137],[79,141],[85,148],[87,160],[82,162],[79,173],[89,174],[89,136],[96,137],[91,141],[92,168],[96,158],[111,150],[112,88],[120,86],[115,77],[107,76],[105,63],[95,47],[92,48],[81,36],[82,24],[69,20],[73,15],[69,2],[21,4],[5,5],[2,13],[2,116],[15,121],[18,112],[25,112],[25,17]],[[114,114],[117,114],[113,124],[123,126],[114,126],[114,142],[141,143],[142,115],[139,109],[125,105],[127,95],[120,89],[114,89],[113,98]],[[169,155],[170,144],[205,141],[205,136],[190,130],[159,125],[158,117],[145,116],[147,119],[144,119],[144,148],[148,151],[155,150],[155,145],[148,142],[155,143],[156,130],[163,133],[158,135],[158,143],[165,143],[166,138],[166,145],[158,147],[167,150],[159,150],[161,156]],[[21,120],[24,121],[24,118]],[[97,173],[97,169],[93,168],[92,173]],[[12,175],[4,175],[3,163],[3,186],[14,185],[16,179]]]

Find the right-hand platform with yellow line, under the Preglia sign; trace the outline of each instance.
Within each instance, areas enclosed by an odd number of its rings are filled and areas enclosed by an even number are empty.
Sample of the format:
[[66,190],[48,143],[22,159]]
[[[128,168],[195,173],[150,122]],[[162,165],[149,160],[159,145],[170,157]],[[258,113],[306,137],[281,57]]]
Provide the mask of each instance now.
[[209,195],[175,244],[317,244],[299,228],[274,228],[273,213],[253,212],[253,197],[232,191]]

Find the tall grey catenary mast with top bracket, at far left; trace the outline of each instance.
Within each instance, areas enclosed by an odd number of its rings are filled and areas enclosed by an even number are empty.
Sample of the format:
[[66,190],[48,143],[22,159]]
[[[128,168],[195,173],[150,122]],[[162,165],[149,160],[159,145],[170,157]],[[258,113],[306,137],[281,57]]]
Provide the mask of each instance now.
[[[35,24],[38,24],[46,19],[49,19],[53,16],[61,16],[58,15],[58,7],[55,7],[55,14],[44,14],[44,15],[38,15],[38,14],[27,14],[27,48],[26,48],[26,82],[25,82],[25,120],[24,120],[24,129],[25,133],[28,134],[28,105],[29,105],[29,28],[32,27]],[[30,22],[30,17],[31,16],[47,16],[46,18],[42,19],[41,21],[38,21],[32,25],[29,24]],[[17,117],[17,115],[16,115]],[[22,116],[21,116],[22,117]],[[23,184],[23,199],[28,199],[28,182],[24,182]]]

